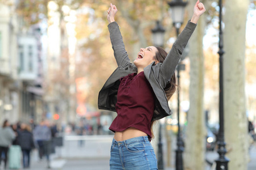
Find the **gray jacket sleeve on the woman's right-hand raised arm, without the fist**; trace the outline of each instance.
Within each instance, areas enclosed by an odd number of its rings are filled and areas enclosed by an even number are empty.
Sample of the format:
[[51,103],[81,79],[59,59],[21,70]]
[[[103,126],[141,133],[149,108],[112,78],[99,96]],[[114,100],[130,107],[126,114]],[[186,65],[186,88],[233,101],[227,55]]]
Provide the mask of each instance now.
[[171,76],[174,74],[177,63],[179,63],[181,54],[183,53],[183,50],[185,49],[189,38],[195,30],[196,25],[197,24],[188,21],[186,27],[177,37],[174,45],[172,45],[172,48],[167,54],[166,59],[164,59],[164,62],[160,67],[160,75],[162,75],[162,77],[166,79],[167,82],[170,82]]

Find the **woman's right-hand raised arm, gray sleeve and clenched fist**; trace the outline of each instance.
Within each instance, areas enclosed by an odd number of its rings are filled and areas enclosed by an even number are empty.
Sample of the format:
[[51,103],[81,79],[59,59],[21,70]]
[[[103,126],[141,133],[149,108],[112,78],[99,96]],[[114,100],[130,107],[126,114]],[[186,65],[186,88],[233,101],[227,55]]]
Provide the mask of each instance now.
[[188,43],[189,38],[191,37],[193,31],[196,28],[196,23],[199,20],[200,16],[204,14],[205,8],[203,3],[197,1],[194,7],[193,16],[190,21],[188,21],[186,27],[177,37],[177,40],[174,42],[171,51],[168,53],[166,59],[162,63],[160,68],[160,74],[167,80],[170,80],[171,76],[174,74],[177,63],[179,63],[181,54],[185,49],[185,46]]

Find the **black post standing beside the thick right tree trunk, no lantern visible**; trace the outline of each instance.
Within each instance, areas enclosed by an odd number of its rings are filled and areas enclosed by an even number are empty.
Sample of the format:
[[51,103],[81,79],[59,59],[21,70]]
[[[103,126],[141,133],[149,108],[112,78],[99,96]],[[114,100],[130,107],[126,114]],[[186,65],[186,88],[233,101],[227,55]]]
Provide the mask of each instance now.
[[222,60],[223,60],[223,37],[222,37],[222,0],[219,0],[220,6],[220,14],[219,14],[219,23],[220,23],[220,40],[218,47],[220,48],[218,50],[218,54],[220,55],[220,99],[219,99],[219,116],[220,116],[220,129],[218,131],[218,154],[219,158],[216,161],[216,170],[228,170],[228,162],[229,159],[225,157],[226,154],[226,148],[225,148],[225,140],[224,140],[224,101],[223,101],[223,65],[222,65]]

